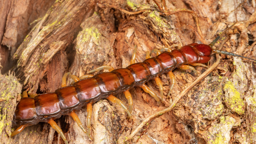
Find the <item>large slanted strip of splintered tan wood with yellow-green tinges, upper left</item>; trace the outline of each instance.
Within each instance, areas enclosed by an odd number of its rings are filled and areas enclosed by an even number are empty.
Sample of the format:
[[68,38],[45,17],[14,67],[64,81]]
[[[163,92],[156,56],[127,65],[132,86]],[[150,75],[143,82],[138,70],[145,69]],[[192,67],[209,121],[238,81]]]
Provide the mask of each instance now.
[[[46,74],[46,65],[61,49],[69,46],[79,29],[81,20],[93,6],[88,1],[58,2],[48,10],[41,21],[26,36],[14,58],[18,58],[18,75],[23,84],[34,93],[40,79]],[[59,72],[65,72],[65,68]]]

